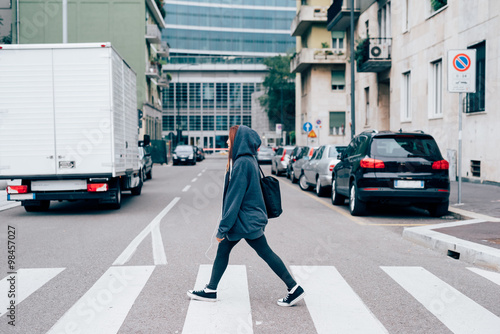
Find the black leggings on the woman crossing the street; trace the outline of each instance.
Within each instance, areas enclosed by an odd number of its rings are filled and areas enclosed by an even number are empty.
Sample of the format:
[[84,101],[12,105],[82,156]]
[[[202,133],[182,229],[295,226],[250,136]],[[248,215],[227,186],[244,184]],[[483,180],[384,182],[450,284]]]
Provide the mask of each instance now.
[[[263,235],[260,238],[245,241],[252,247],[257,254],[271,267],[271,269],[278,275],[279,278],[285,282],[288,289],[293,288],[297,283],[292,278],[290,273],[285,267],[285,264],[280,259],[276,253],[273,252],[271,247],[267,244],[266,237]],[[214,265],[212,268],[212,277],[210,278],[210,283],[207,288],[212,290],[217,290],[219,281],[226,271],[227,265],[229,263],[229,254],[238,241],[229,241],[227,238],[219,243],[217,248],[217,256],[215,257]]]

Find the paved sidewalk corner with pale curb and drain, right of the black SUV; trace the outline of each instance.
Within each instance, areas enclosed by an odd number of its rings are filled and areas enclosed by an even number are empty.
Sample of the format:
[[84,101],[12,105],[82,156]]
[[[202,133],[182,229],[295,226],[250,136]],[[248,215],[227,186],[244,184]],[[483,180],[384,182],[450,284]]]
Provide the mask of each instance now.
[[455,259],[500,271],[500,186],[452,182],[450,212],[460,221],[406,228],[405,239]]

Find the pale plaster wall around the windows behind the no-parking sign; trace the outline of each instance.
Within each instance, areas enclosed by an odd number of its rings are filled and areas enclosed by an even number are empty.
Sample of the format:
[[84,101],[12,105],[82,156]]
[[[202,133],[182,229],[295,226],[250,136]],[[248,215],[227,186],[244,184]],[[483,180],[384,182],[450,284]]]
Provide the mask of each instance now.
[[[433,135],[445,158],[458,149],[459,94],[447,90],[447,50],[467,49],[486,41],[486,108],[484,112],[463,114],[462,176],[480,181],[500,182],[500,152],[495,145],[500,138],[499,40],[500,2],[478,0],[474,6],[465,0],[448,1],[448,5],[431,14],[426,6],[410,1],[409,29],[404,31],[402,2],[394,1],[393,62],[391,69],[391,130],[422,129]],[[437,118],[429,116],[429,78],[431,62],[442,60],[442,110]],[[412,118],[401,121],[402,73],[411,71]],[[464,94],[465,96],[465,94]],[[481,161],[481,176],[472,177],[471,160]],[[450,167],[451,168],[451,167]],[[450,171],[454,173],[455,170]]]

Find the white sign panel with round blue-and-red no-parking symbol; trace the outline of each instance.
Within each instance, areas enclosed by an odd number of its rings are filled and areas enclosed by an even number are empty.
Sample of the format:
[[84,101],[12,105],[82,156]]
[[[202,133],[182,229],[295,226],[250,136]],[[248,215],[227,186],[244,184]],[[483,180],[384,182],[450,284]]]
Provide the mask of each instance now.
[[448,51],[448,92],[476,92],[476,50]]

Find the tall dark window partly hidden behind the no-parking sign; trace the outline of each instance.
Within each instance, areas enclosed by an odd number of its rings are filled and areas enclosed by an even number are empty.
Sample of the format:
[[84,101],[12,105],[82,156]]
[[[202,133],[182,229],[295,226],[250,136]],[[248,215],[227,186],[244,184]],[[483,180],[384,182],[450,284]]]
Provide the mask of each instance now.
[[486,42],[469,49],[476,49],[476,92],[467,94],[465,112],[473,113],[486,110]]

